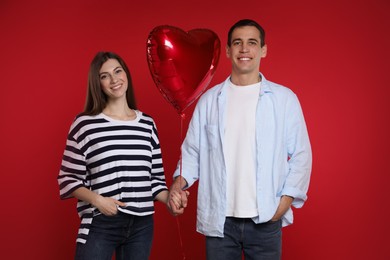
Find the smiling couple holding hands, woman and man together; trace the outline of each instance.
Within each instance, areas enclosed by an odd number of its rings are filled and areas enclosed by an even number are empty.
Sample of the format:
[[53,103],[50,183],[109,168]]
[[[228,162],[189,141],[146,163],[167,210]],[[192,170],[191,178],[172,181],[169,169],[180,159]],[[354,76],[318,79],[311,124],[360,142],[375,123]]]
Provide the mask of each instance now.
[[61,198],[78,199],[75,259],[109,260],[114,251],[116,259],[148,259],[154,200],[182,214],[195,181],[207,259],[281,258],[281,229],[292,223],[291,206],[307,199],[312,157],[298,98],[259,72],[266,55],[257,22],[230,28],[231,75],[200,97],[170,191],[156,125],[136,109],[125,62],[95,56],[58,175]]

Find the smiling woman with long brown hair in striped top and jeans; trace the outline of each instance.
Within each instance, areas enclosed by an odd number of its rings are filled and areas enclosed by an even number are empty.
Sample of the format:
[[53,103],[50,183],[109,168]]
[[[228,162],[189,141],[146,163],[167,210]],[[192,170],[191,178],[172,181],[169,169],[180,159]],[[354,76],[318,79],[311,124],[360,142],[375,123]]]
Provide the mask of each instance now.
[[75,259],[148,259],[154,200],[167,204],[153,119],[136,109],[130,72],[115,53],[91,62],[84,112],[70,127],[58,175],[62,199],[78,199]]

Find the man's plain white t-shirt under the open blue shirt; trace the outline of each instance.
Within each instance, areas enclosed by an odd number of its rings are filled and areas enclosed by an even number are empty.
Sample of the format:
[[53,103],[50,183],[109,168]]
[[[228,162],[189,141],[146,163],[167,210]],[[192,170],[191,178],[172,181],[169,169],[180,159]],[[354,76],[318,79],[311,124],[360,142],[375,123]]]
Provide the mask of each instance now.
[[231,83],[227,91],[226,216],[251,218],[258,215],[255,118],[259,95],[260,82],[248,86]]

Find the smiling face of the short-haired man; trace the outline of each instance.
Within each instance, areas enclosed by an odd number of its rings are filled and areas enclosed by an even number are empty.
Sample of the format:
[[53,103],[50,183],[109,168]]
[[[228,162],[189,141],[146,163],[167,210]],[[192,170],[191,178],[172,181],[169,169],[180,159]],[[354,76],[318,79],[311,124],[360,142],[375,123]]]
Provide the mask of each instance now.
[[258,74],[260,60],[266,55],[267,46],[261,47],[260,32],[254,26],[236,28],[230,47],[226,46],[226,56],[231,60],[233,73],[236,74]]

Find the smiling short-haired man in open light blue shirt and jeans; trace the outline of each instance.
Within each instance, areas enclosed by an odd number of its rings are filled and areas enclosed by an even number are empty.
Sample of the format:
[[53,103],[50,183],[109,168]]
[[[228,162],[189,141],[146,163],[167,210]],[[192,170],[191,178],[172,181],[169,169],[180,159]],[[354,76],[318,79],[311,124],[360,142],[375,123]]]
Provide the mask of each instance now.
[[231,27],[231,75],[201,96],[182,145],[170,204],[183,210],[182,190],[199,181],[197,231],[206,236],[207,259],[280,259],[290,206],[307,199],[312,155],[305,120],[296,95],[259,72],[266,55],[257,22]]

